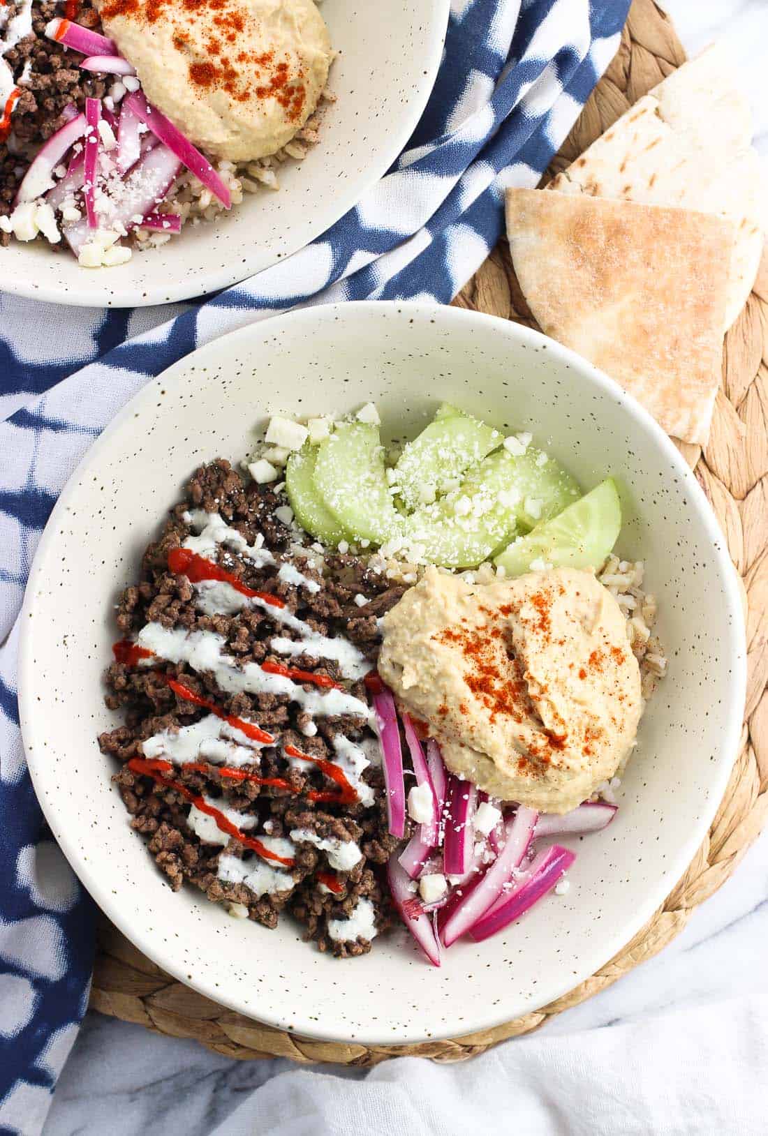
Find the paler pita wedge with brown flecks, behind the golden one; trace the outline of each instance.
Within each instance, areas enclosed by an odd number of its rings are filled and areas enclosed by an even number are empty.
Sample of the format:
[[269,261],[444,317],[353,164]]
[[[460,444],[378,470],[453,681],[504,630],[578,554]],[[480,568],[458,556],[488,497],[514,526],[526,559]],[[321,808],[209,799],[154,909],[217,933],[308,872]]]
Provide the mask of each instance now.
[[708,48],[631,107],[548,186],[733,220],[724,329],[746,302],[768,227],[768,182],[734,73],[723,48]]

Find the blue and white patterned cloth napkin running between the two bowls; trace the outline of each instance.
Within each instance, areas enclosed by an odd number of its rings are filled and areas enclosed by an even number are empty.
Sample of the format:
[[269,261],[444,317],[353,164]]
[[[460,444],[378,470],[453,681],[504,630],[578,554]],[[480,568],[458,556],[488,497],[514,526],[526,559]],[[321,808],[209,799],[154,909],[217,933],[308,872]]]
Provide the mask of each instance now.
[[[448,302],[534,186],[618,47],[628,0],[452,0],[434,92],[360,203],[286,261],[201,303],[73,309],[0,294],[0,1134],[42,1127],[84,1013],[93,907],[45,830],[16,703],[19,609],[67,477],[151,377],[300,303]],[[0,252],[0,286],[2,285]]]

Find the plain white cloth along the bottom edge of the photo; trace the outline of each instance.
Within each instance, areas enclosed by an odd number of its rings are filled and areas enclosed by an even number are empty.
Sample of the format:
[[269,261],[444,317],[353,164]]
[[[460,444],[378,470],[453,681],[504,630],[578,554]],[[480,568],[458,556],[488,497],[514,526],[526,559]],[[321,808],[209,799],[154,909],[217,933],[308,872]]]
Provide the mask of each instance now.
[[454,1064],[401,1058],[364,1081],[297,1069],[214,1136],[766,1136],[767,1104],[763,992]]

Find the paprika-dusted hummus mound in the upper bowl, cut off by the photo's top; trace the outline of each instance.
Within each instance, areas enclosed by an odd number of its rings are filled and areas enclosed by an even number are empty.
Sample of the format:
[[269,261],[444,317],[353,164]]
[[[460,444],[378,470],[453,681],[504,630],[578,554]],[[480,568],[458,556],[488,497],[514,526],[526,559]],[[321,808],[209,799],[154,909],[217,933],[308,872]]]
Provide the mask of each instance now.
[[148,100],[207,154],[275,153],[317,107],[333,58],[314,0],[97,0]]

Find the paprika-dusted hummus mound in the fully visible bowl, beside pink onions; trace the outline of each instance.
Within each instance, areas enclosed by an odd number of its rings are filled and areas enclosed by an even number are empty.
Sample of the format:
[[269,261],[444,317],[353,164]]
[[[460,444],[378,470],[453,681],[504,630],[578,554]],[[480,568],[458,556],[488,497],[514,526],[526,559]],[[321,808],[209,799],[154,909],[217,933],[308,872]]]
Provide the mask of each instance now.
[[640,667],[592,573],[470,585],[429,568],[383,632],[384,682],[427,722],[449,769],[493,796],[568,812],[634,744]]

